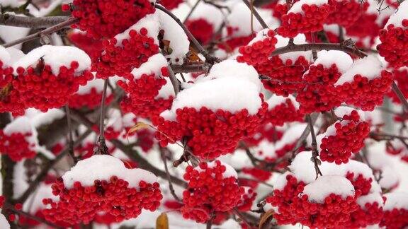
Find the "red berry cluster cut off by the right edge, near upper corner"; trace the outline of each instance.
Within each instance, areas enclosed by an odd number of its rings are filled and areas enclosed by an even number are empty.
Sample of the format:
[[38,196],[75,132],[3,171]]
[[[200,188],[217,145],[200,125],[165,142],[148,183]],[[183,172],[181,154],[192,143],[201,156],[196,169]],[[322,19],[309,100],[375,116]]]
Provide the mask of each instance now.
[[396,69],[408,66],[408,19],[402,20],[402,26],[390,24],[380,30],[381,44],[377,46],[380,56]]

